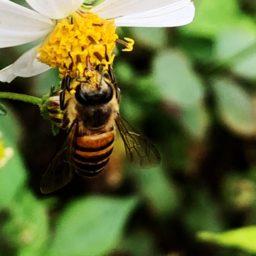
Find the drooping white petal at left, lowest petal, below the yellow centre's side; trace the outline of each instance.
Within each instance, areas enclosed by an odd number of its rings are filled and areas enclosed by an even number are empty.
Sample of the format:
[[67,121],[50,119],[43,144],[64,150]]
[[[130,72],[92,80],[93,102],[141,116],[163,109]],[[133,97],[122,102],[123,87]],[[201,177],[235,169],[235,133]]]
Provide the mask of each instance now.
[[50,66],[43,64],[36,59],[36,55],[38,54],[36,49],[39,47],[40,45],[31,48],[21,55],[15,63],[0,70],[0,81],[11,82],[17,76],[29,78],[33,75],[38,75],[49,70]]

